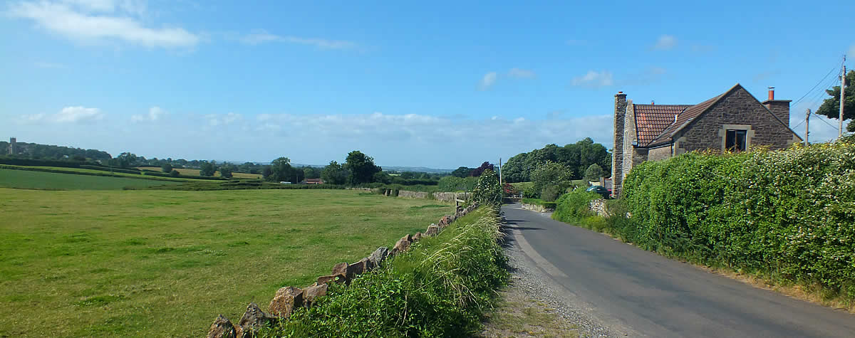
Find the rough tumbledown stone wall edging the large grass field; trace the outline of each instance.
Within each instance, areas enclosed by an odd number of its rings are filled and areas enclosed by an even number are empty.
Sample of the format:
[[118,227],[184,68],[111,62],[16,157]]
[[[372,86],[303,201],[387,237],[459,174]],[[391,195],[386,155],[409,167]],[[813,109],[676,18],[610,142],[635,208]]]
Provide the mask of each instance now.
[[[427,194],[427,193],[425,193]],[[380,247],[368,257],[359,259],[356,263],[342,262],[333,265],[329,275],[317,278],[317,281],[305,288],[285,287],[276,291],[273,300],[270,300],[268,312],[262,311],[256,303],[246,306],[246,312],[240,318],[237,325],[222,315],[217,316],[208,330],[209,338],[221,337],[252,337],[264,326],[273,325],[281,320],[286,320],[299,307],[311,307],[318,299],[327,294],[329,283],[347,283],[359,277],[363,273],[374,270],[386,262],[386,259],[394,257],[410,249],[415,242],[419,242],[425,236],[436,236],[446,226],[472,212],[478,207],[477,204],[469,207],[457,207],[453,215],[446,215],[439,219],[439,224],[430,224],[424,233],[416,232],[416,235],[407,234],[401,237],[392,249]]]

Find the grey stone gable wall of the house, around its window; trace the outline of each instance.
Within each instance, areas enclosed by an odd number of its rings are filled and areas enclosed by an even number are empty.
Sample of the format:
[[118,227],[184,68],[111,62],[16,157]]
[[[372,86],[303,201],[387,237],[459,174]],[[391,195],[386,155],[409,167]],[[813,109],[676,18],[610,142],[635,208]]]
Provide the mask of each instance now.
[[724,149],[723,131],[740,128],[748,130],[746,143],[749,147],[763,145],[781,149],[801,140],[744,88],[723,97],[674,138],[680,140],[677,146],[681,152],[721,151]]

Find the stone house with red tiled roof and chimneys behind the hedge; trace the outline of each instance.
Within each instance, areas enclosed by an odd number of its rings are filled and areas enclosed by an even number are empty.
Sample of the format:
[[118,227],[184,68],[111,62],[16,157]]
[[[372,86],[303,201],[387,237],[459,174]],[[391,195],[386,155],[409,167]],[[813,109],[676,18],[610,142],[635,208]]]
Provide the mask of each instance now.
[[612,153],[613,194],[619,196],[623,178],[645,160],[664,160],[693,150],[743,151],[754,146],[786,148],[801,141],[790,129],[790,102],[760,102],[736,84],[721,95],[698,104],[635,104],[615,95],[615,148]]

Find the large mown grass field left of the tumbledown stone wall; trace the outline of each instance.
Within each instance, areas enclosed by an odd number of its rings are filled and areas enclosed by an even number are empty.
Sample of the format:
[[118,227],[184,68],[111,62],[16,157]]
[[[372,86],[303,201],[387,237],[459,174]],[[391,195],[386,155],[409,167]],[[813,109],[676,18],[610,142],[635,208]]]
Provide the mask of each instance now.
[[452,207],[352,190],[0,189],[0,336],[203,336]]

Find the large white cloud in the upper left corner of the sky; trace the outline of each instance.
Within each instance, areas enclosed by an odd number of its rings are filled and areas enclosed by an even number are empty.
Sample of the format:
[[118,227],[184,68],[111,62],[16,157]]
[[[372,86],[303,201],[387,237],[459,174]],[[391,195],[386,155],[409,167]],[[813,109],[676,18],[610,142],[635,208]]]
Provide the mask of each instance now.
[[144,26],[133,15],[144,5],[133,1],[66,0],[21,2],[9,15],[33,20],[38,26],[80,41],[118,40],[146,47],[192,47],[200,38],[180,27]]

